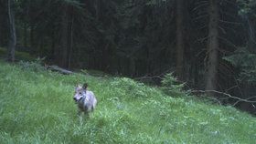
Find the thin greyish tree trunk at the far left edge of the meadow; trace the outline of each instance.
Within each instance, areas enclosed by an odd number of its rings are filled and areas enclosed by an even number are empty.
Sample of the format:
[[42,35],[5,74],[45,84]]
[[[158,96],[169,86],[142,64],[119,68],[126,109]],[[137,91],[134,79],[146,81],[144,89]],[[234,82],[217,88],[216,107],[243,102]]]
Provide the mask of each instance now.
[[15,26],[15,15],[12,9],[14,5],[13,0],[8,0],[8,18],[9,18],[9,44],[8,44],[8,56],[7,60],[15,61],[16,51],[16,26]]

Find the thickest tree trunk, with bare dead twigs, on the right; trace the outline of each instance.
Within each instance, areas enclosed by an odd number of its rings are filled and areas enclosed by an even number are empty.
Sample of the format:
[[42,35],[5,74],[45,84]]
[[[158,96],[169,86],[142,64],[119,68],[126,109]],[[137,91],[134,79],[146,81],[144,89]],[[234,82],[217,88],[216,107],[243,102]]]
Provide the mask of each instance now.
[[[206,90],[217,90],[219,66],[219,8],[218,0],[209,0],[208,24],[208,71]],[[209,93],[212,95],[211,93]]]

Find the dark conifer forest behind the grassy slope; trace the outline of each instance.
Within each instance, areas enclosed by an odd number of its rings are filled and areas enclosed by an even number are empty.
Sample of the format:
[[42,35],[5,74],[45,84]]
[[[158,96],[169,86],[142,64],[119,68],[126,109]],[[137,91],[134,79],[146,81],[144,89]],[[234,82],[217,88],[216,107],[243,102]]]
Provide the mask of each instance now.
[[255,0],[0,0],[0,47],[256,112]]

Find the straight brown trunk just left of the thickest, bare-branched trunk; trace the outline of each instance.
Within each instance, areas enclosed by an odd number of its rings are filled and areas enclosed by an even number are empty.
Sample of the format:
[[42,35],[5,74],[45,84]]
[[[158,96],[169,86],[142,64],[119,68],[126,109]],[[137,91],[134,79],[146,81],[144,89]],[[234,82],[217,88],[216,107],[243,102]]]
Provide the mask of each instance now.
[[176,0],[176,76],[184,78],[184,1]]

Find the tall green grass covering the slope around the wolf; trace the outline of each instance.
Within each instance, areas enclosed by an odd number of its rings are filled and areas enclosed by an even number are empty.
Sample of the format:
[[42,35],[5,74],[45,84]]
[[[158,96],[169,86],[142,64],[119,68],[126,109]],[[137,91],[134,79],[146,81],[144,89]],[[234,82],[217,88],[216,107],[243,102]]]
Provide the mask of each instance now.
[[[64,76],[0,61],[0,143],[255,143],[256,118],[125,77]],[[77,116],[74,87],[98,105]],[[175,97],[175,96],[174,96]]]

